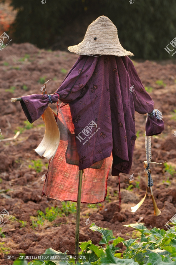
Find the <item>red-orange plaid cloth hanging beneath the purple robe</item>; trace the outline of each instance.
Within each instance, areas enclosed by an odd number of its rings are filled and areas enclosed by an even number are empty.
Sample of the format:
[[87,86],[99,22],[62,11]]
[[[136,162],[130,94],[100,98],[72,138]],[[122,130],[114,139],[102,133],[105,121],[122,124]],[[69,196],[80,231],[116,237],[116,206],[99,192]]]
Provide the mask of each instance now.
[[[74,137],[74,125],[69,105],[62,105],[58,110],[57,123],[60,131],[60,143],[52,161],[49,162],[48,172],[44,183],[43,195],[60,201],[77,202],[79,169],[76,164],[78,155],[75,142],[69,146],[69,138]],[[72,152],[71,152],[72,151]],[[67,155],[66,155],[67,153]],[[107,196],[107,179],[112,163],[112,156],[100,161],[96,168],[84,169],[82,179],[81,203],[99,203]],[[93,164],[93,166],[95,166]],[[101,167],[100,167],[101,165]]]

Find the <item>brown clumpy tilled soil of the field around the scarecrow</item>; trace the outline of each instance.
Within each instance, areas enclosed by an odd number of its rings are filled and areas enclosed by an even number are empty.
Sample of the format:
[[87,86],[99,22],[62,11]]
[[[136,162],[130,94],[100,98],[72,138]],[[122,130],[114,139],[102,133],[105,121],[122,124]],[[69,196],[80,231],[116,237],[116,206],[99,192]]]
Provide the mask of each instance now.
[[[48,85],[48,92],[55,92],[66,75],[64,70],[68,72],[77,58],[76,54],[40,50],[29,43],[8,45],[0,52],[2,133],[0,139],[13,137],[18,127],[21,130],[25,126],[26,117],[20,103],[11,103],[10,98],[40,94],[42,84],[37,81],[44,76],[46,80],[55,77]],[[155,102],[155,108],[162,111],[165,122],[165,131],[161,135],[152,137],[152,161],[162,163],[168,160],[168,164],[175,166],[176,137],[173,133],[176,130],[176,118],[172,119],[171,113],[176,109],[176,65],[170,62],[152,61],[134,63],[144,86],[153,87],[150,95]],[[157,85],[157,80],[163,80],[166,85]],[[9,89],[13,93],[9,92]],[[56,105],[52,108],[56,112]],[[134,173],[135,179],[130,182],[129,175],[121,174],[122,203],[119,209],[118,178],[109,174],[109,191],[104,204],[96,205],[95,208],[89,208],[87,204],[81,205],[79,241],[92,239],[94,244],[98,244],[100,234],[88,229],[92,222],[100,227],[109,227],[116,237],[129,239],[135,234],[132,234],[132,228],[125,228],[124,224],[141,221],[148,228],[156,226],[166,229],[165,223],[176,213],[176,175],[172,176],[165,172],[163,164],[151,164],[150,167],[154,180],[154,196],[158,208],[162,211],[161,215],[153,216],[150,194],[136,213],[130,210],[130,207],[138,203],[145,194],[143,161],[146,160],[144,137],[146,115],[136,113],[135,120],[138,137],[130,171],[130,175]],[[69,250],[69,254],[74,253],[75,215],[73,213],[66,217],[58,216],[52,222],[45,221],[43,226],[32,226],[30,216],[35,218],[38,215],[37,210],[45,212],[47,207],[61,207],[60,201],[41,197],[43,187],[41,175],[47,172],[45,164],[48,161],[40,158],[33,149],[41,142],[44,130],[42,118],[39,118],[32,128],[23,130],[15,141],[0,142],[0,212],[5,208],[10,216],[16,217],[16,219],[11,218],[1,230],[5,237],[0,237],[0,244],[5,242],[3,247],[9,248],[10,254],[42,254],[49,247],[62,252]],[[42,161],[41,172],[37,173],[35,169],[29,168],[29,165],[32,165],[31,160]],[[127,188],[131,184],[133,188],[129,191]],[[136,187],[138,184],[140,189]],[[89,225],[85,223],[87,218],[90,219]],[[26,226],[23,227],[19,220],[26,222]],[[122,252],[124,247],[122,244],[120,247]],[[0,250],[0,264],[12,264],[12,261],[4,261],[3,257],[3,251]]]

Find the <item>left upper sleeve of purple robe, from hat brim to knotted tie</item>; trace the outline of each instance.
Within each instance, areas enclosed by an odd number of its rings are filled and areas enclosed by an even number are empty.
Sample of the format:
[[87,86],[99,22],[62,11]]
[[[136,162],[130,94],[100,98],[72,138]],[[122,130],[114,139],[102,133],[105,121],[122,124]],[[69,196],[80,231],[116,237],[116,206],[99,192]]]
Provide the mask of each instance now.
[[59,100],[63,103],[69,103],[82,97],[88,87],[87,82],[91,78],[98,57],[94,56],[80,56],[74,64],[66,78],[55,92],[59,94]]

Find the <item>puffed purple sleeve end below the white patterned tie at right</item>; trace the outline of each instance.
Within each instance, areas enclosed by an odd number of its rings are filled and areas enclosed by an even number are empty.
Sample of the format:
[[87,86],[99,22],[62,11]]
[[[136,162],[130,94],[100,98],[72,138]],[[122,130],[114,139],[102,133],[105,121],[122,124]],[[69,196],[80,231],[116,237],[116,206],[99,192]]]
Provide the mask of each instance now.
[[157,119],[156,113],[155,116],[147,117],[147,122],[145,125],[145,131],[147,136],[160,134],[164,129],[164,121]]

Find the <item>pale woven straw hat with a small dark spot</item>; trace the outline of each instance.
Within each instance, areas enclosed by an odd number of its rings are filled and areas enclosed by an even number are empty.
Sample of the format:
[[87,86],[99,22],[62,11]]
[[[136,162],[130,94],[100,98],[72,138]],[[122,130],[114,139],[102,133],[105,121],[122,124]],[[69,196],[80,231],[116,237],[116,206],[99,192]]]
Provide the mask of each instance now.
[[99,16],[93,21],[87,28],[83,41],[68,47],[68,50],[81,55],[134,55],[121,46],[117,28],[107,16]]

